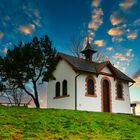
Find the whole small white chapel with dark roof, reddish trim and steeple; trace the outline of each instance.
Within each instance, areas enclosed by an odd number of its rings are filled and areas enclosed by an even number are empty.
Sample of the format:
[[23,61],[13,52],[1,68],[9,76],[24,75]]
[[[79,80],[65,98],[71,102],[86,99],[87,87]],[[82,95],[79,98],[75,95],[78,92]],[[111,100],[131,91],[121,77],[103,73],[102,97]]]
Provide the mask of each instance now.
[[81,53],[84,58],[58,54],[55,80],[48,80],[47,107],[131,113],[129,84],[135,81],[109,61],[92,61],[96,50],[89,42]]

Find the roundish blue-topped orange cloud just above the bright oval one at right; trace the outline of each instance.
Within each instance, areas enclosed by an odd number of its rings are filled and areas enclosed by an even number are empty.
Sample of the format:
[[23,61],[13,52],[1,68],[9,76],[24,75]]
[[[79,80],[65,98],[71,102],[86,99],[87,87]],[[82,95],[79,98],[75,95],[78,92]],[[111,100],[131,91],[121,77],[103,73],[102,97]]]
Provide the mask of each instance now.
[[110,21],[112,25],[118,25],[124,21],[124,17],[122,13],[119,11],[115,11],[111,16],[110,16]]

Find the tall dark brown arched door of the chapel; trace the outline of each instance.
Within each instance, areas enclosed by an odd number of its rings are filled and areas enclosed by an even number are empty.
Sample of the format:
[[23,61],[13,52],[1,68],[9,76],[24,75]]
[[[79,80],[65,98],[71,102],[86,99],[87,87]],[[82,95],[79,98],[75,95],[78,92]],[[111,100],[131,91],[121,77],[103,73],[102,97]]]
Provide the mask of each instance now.
[[110,112],[110,91],[108,80],[103,81],[103,111]]

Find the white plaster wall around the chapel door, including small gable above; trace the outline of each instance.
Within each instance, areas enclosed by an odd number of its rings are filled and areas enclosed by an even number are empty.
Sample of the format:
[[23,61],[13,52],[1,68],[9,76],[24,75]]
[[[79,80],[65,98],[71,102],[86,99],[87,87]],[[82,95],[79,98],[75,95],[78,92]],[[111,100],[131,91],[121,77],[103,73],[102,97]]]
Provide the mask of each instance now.
[[[102,72],[111,73],[106,67]],[[97,97],[85,96],[86,87],[85,79],[87,75],[80,75],[77,79],[77,107],[79,110],[88,110],[88,111],[102,111],[102,101],[101,101],[101,79],[103,77],[108,77],[104,75],[99,75],[96,77],[92,75],[96,80],[96,94]],[[116,99],[116,80],[114,81],[113,77],[108,77],[111,82],[111,106],[112,112],[114,113],[130,113],[130,96],[129,96],[129,87],[128,83],[123,83],[124,88],[124,100]]]

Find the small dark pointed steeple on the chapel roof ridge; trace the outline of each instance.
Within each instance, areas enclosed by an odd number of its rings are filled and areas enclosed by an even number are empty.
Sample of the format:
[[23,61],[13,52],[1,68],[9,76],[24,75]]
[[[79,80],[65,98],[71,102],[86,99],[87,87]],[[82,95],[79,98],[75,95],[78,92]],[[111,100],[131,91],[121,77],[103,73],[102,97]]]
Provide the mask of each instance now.
[[96,52],[97,51],[95,51],[91,47],[90,42],[89,42],[89,37],[87,37],[86,47],[81,51],[81,53],[85,55],[86,60],[92,61],[92,55]]

